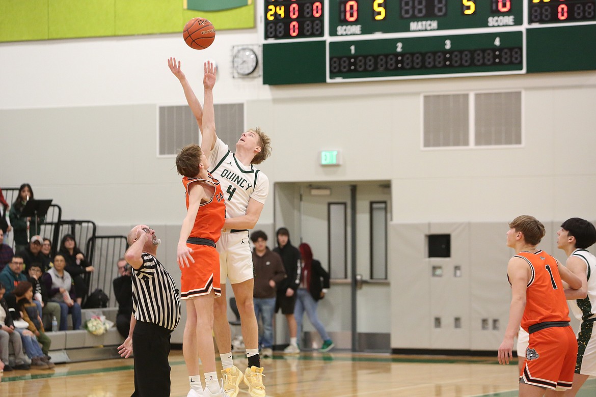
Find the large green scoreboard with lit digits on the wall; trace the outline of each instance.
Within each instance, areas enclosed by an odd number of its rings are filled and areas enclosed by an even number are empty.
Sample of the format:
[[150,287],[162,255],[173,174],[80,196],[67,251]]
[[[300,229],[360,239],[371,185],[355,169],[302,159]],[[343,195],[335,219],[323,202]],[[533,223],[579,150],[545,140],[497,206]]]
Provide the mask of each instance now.
[[596,70],[596,0],[262,0],[263,82]]

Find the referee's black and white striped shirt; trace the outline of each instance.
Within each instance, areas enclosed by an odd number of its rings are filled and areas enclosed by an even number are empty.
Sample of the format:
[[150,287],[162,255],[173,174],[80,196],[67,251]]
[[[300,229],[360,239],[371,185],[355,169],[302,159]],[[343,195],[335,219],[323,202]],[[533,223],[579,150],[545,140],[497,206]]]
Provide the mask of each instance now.
[[180,301],[174,279],[151,254],[143,252],[142,266],[132,277],[132,312],[137,321],[173,330],[180,321]]

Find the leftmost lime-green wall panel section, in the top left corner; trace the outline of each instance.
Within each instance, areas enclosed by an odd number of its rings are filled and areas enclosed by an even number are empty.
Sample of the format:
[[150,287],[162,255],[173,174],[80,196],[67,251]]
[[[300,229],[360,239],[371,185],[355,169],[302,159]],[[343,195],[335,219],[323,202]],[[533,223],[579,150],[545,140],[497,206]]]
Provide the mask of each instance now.
[[0,42],[48,38],[48,0],[0,0]]

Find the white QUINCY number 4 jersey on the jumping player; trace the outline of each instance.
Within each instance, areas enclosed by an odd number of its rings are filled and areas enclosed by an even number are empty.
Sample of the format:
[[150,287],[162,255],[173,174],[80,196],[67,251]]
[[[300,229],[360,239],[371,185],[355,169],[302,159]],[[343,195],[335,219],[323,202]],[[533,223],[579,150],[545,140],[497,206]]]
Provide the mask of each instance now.
[[246,215],[252,198],[262,204],[269,195],[269,179],[253,165],[244,165],[218,138],[209,156],[210,173],[221,183],[226,201],[226,218]]

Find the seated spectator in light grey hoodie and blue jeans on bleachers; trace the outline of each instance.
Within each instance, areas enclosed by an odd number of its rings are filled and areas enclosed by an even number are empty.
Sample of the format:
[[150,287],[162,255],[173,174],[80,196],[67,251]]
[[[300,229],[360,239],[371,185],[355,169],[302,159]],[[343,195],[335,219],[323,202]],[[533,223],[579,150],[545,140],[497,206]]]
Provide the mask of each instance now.
[[63,255],[56,254],[54,257],[54,267],[52,267],[42,280],[48,290],[49,299],[60,305],[60,327],[61,331],[66,331],[67,317],[73,316],[73,329],[80,329],[81,314],[80,305],[76,302],[75,286],[72,277],[68,271],[64,270],[66,260]]

